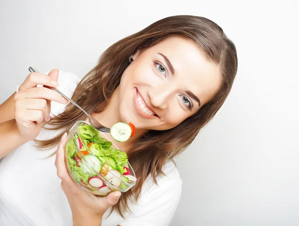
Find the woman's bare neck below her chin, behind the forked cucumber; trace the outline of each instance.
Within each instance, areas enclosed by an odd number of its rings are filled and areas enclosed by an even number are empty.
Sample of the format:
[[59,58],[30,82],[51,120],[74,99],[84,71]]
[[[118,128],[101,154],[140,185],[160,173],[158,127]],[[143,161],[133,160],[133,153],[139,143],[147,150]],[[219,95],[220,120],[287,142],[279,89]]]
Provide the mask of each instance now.
[[[94,113],[92,116],[98,120],[101,124],[103,124],[106,127],[111,128],[115,123],[122,122],[121,116],[120,116],[120,98],[119,98],[119,88],[117,88],[110,100],[107,104],[106,108],[99,113]],[[129,123],[129,122],[125,122]],[[135,144],[138,138],[140,138],[144,133],[147,131],[144,129],[136,129],[135,135],[131,137],[126,142],[117,142],[115,141],[111,136],[110,133],[105,133],[105,135],[113,141],[113,143],[122,151],[128,152]]]

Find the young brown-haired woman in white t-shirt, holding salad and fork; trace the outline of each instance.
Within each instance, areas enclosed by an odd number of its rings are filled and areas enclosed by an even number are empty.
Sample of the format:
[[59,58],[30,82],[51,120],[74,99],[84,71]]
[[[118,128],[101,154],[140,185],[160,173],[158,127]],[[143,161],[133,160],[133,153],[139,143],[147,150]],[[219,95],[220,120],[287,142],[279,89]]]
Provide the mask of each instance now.
[[[180,15],[116,42],[81,81],[56,69],[29,74],[0,106],[0,225],[168,226],[182,185],[172,159],[215,116],[236,72],[236,48],[223,30]],[[134,137],[117,143],[136,186],[99,198],[71,180],[65,132],[87,118],[37,84],[58,86],[107,127],[136,126]]]

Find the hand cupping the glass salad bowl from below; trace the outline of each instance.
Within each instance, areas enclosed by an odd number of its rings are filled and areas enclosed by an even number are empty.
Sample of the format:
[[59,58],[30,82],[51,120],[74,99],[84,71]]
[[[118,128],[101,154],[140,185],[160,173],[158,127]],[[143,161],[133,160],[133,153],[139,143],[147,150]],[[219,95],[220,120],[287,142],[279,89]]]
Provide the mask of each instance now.
[[66,141],[67,134],[65,133],[58,144],[55,166],[57,175],[62,180],[61,188],[72,210],[73,225],[101,226],[104,213],[117,204],[121,192],[112,192],[106,197],[97,197],[78,186],[66,170],[64,161]]

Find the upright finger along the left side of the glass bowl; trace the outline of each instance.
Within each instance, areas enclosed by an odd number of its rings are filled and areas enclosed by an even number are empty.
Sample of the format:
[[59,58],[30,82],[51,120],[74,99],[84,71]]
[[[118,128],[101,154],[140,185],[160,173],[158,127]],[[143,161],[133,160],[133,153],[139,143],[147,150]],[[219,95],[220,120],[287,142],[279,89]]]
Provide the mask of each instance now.
[[64,162],[64,148],[67,142],[67,133],[64,133],[57,148],[55,166],[57,168],[57,175],[61,180],[71,180],[66,170]]

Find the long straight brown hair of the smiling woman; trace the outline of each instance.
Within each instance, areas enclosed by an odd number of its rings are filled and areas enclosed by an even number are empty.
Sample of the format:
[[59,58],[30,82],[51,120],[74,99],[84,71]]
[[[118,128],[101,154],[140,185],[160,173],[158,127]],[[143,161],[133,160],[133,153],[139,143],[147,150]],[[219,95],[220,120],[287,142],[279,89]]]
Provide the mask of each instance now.
[[[197,43],[209,60],[220,65],[222,85],[212,100],[176,127],[165,131],[149,131],[137,141],[128,153],[129,162],[138,178],[137,185],[123,193],[119,203],[113,207],[122,216],[129,211],[128,200],[137,201],[146,178],[151,175],[156,182],[156,177],[163,174],[165,162],[187,148],[224,103],[237,73],[235,45],[221,27],[207,18],[191,15],[166,17],[110,46],[72,95],[72,99],[88,112],[103,111],[120,84],[121,76],[129,65],[129,57],[137,50],[145,50],[169,36],[180,36]],[[53,126],[51,129],[61,129],[62,132],[50,140],[36,140],[37,146],[42,149],[54,147],[62,134],[68,132],[76,121],[84,120],[84,117],[80,109],[69,104],[64,112],[48,122]]]

